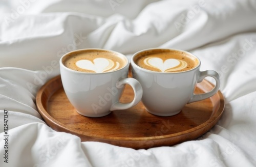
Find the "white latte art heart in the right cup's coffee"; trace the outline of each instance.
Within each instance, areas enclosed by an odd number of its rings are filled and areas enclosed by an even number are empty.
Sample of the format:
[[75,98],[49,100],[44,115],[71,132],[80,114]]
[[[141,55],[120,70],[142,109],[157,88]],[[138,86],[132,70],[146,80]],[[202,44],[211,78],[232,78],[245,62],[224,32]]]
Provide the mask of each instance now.
[[161,72],[172,72],[182,70],[187,67],[187,63],[179,59],[167,59],[163,61],[160,58],[149,57],[144,59],[144,64],[159,69]]

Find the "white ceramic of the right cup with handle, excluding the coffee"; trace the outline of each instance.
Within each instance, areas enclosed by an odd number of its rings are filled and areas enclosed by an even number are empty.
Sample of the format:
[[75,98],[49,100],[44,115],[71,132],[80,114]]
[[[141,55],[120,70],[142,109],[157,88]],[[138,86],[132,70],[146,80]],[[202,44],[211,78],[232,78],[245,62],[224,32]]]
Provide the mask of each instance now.
[[[219,74],[214,70],[200,71],[200,60],[193,54],[185,52],[198,60],[198,65],[184,72],[155,72],[139,67],[134,58],[143,55],[146,51],[159,50],[160,52],[177,50],[152,48],[138,51],[131,58],[132,74],[143,89],[142,103],[147,112],[157,116],[173,116],[187,104],[209,98],[216,94],[220,88]],[[194,94],[196,84],[206,76],[216,80],[216,86],[210,92]]]

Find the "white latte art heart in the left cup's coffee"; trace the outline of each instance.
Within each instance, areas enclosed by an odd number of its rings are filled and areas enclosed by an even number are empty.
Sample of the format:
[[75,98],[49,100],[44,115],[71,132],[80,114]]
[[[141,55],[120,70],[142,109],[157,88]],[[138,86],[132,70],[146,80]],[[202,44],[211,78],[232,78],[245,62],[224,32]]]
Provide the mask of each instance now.
[[119,68],[120,64],[110,59],[96,58],[93,60],[93,62],[90,60],[79,60],[76,62],[76,66],[81,69],[91,70],[96,73],[101,73],[101,72],[115,71],[116,69]]

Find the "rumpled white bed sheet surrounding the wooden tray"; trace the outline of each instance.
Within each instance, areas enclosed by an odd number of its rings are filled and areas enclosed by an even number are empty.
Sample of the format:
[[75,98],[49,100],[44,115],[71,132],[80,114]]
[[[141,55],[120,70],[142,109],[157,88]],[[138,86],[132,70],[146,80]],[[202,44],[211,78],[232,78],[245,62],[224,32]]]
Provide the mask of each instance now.
[[[62,54],[105,48],[131,58],[152,47],[190,51],[202,71],[220,74],[223,116],[197,140],[134,150],[81,142],[41,119],[36,92],[59,74]],[[256,166],[254,0],[3,0],[0,67],[0,166]]]

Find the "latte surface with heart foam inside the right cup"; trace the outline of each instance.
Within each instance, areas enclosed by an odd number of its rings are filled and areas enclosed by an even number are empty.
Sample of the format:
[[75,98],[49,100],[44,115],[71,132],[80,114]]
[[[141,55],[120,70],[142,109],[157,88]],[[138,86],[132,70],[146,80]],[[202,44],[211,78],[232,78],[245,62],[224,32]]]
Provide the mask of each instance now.
[[199,61],[189,53],[180,50],[153,49],[140,52],[134,58],[135,64],[156,72],[182,72],[194,69]]

